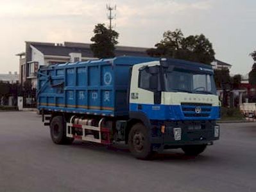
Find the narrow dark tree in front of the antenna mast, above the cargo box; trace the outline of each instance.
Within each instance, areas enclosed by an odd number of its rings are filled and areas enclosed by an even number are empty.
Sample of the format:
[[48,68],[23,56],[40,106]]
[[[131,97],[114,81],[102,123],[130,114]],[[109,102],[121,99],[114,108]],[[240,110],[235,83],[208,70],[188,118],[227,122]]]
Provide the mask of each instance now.
[[105,24],[98,24],[94,28],[94,36],[90,39],[93,44],[90,49],[96,58],[112,58],[115,56],[115,45],[118,44],[119,33],[107,29]]

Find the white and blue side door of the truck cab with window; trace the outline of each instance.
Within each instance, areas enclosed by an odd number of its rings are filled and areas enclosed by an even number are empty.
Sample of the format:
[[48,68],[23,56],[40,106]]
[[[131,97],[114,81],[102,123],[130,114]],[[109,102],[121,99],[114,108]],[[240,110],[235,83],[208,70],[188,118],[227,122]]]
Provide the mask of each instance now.
[[134,65],[130,86],[130,111],[140,111],[149,119],[159,119],[161,106],[158,61]]

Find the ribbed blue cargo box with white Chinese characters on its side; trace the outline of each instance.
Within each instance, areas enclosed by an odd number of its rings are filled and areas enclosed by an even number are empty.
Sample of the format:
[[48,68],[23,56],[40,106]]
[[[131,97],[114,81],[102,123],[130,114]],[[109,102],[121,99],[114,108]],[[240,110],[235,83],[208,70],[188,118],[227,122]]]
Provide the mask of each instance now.
[[92,115],[128,115],[130,68],[156,58],[121,56],[112,59],[41,67],[38,109]]

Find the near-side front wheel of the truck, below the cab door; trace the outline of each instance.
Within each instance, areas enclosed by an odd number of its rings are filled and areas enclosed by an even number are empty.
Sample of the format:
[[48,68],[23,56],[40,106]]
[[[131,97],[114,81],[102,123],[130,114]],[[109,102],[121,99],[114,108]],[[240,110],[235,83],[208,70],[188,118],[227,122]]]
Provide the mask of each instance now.
[[142,124],[133,125],[128,136],[130,152],[137,159],[150,159],[152,155],[149,132]]

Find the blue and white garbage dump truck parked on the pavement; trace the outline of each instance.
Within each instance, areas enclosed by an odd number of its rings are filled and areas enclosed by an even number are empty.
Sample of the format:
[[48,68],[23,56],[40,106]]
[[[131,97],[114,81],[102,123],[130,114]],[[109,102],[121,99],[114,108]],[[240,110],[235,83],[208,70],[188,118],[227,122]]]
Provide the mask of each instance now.
[[121,56],[38,71],[38,109],[56,144],[128,144],[138,159],[182,148],[197,156],[219,139],[210,65]]

